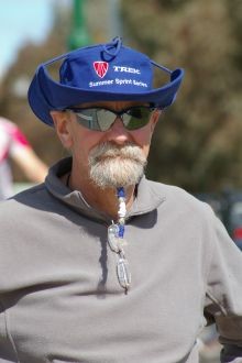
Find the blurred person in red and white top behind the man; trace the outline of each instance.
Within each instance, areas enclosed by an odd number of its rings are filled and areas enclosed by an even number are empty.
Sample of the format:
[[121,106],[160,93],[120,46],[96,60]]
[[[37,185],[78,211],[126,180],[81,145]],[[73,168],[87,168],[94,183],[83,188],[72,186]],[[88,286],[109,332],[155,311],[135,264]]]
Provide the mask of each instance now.
[[10,158],[32,183],[42,183],[47,166],[37,157],[20,129],[0,117],[0,200],[13,195]]

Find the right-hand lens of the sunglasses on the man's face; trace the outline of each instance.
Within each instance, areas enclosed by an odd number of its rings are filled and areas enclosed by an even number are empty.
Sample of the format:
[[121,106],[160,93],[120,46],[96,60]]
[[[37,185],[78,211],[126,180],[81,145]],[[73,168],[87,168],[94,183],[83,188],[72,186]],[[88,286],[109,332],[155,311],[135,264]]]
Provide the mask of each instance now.
[[127,111],[123,118],[128,130],[136,130],[145,127],[151,118],[152,110],[147,107],[134,107]]

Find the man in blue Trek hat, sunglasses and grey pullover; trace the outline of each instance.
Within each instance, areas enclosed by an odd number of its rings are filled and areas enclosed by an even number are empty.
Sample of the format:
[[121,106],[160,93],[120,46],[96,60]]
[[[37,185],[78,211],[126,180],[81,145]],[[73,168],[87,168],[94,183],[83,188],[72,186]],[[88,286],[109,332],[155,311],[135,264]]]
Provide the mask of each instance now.
[[[153,88],[153,68],[170,80]],[[205,317],[242,361],[240,251],[206,204],[143,175],[182,78],[119,37],[38,67],[30,105],[72,157],[0,210],[0,362],[196,363]]]

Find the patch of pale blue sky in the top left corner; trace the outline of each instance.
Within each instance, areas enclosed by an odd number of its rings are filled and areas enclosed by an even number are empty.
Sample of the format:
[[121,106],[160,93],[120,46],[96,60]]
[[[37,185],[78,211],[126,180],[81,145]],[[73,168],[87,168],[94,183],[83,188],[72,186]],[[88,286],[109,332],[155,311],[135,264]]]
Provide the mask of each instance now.
[[[3,0],[0,2],[0,78],[26,41],[42,42],[52,26],[55,0]],[[57,0],[66,4],[70,0]]]

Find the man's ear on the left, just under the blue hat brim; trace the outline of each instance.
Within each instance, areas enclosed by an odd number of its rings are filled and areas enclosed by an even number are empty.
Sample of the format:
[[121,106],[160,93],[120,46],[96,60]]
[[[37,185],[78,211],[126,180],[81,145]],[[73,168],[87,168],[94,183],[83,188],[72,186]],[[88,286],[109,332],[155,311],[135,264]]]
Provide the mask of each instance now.
[[51,111],[51,116],[63,146],[70,148],[73,145],[73,135],[69,114],[65,111]]

